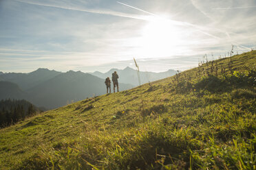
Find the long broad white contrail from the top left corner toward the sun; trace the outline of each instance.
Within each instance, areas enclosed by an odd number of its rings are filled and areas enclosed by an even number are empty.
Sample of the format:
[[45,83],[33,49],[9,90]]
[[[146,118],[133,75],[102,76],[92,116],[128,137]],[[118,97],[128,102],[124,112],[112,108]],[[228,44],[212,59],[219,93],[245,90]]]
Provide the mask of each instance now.
[[146,20],[144,16],[138,16],[138,15],[134,15],[134,14],[125,14],[122,12],[113,12],[113,11],[106,11],[106,10],[89,10],[89,9],[84,9],[84,8],[81,9],[81,8],[65,7],[65,6],[61,6],[61,5],[34,3],[31,1],[22,1],[22,0],[15,0],[15,1],[19,1],[21,3],[28,3],[31,5],[40,5],[40,6],[50,7],[50,8],[60,8],[63,10],[74,10],[74,11],[89,12],[89,13],[94,13],[94,14],[107,14],[107,15],[111,15],[111,16],[120,16],[120,17],[131,18],[131,19]]

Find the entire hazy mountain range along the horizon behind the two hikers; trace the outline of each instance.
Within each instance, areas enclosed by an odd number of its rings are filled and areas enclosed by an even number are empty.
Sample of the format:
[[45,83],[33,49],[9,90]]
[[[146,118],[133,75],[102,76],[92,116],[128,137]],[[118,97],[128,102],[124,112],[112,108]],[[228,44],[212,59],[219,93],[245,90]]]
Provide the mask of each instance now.
[[[119,87],[127,90],[138,86],[137,71],[127,67],[111,69],[107,73],[62,73],[49,69],[37,69],[31,73],[0,73],[0,99],[26,99],[38,107],[58,108],[87,97],[106,93],[105,78],[118,72]],[[140,72],[142,84],[174,75],[169,70],[163,73]],[[111,86],[113,89],[113,86]]]

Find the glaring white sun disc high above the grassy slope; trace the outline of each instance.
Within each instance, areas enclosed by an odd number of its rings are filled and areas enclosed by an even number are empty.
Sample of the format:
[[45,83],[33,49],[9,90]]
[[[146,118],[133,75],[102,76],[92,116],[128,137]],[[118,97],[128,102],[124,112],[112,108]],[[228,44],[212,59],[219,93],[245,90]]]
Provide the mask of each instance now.
[[142,28],[140,43],[147,55],[169,56],[177,53],[181,42],[180,30],[168,19],[153,17]]

